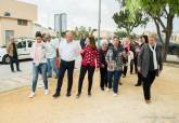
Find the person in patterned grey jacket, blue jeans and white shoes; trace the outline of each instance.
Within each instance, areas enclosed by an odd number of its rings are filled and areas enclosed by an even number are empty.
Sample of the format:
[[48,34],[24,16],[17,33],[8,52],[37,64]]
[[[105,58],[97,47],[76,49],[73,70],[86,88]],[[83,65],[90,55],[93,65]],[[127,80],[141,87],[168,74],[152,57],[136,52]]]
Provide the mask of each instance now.
[[[113,38],[113,46],[108,47],[108,51],[105,56],[105,60],[107,63],[107,83],[108,83],[108,91],[111,91],[113,85],[113,96],[117,96],[118,93],[118,81],[122,76],[123,71],[123,59],[122,59],[122,52],[119,47],[119,39],[117,37]],[[114,81],[112,82],[112,79]]]

